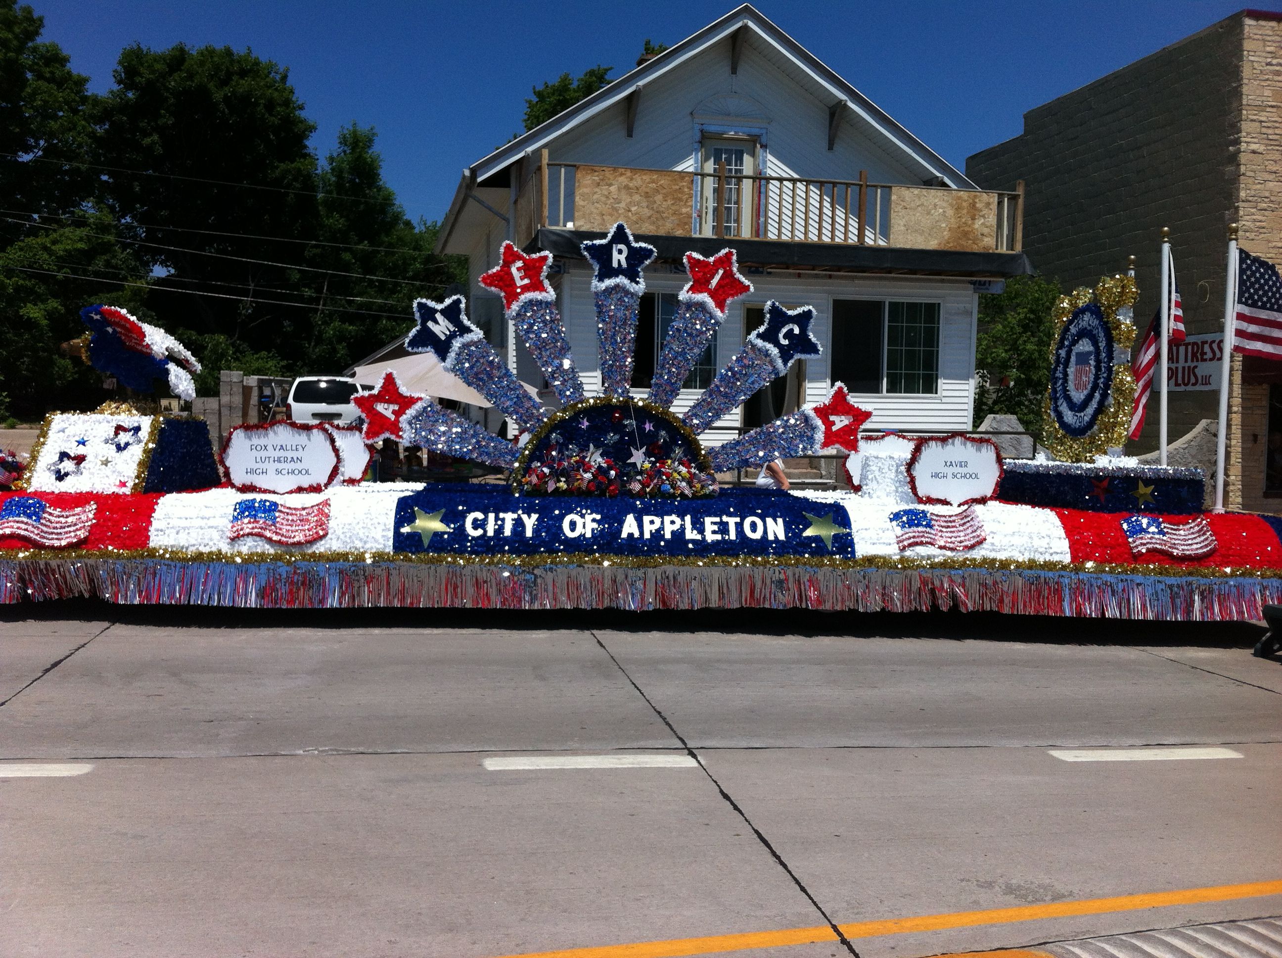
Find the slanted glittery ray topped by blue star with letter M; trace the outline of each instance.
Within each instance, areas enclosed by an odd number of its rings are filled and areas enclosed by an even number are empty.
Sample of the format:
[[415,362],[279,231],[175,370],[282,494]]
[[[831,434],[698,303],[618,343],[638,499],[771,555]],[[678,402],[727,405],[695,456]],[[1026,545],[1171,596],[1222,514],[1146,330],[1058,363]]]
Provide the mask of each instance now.
[[494,404],[522,428],[544,421],[538,408],[508,364],[468,319],[463,296],[445,303],[414,300],[418,324],[405,337],[410,353],[435,353],[441,364]]

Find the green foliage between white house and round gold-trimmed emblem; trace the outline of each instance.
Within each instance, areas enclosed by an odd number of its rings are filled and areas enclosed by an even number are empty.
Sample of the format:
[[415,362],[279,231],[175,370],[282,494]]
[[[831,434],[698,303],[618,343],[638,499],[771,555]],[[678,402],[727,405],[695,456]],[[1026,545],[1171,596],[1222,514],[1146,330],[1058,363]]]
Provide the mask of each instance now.
[[1050,349],[1059,282],[1036,276],[1006,280],[1004,292],[979,296],[974,364],[974,424],[991,413],[1018,416],[1042,440],[1042,400],[1050,389]]

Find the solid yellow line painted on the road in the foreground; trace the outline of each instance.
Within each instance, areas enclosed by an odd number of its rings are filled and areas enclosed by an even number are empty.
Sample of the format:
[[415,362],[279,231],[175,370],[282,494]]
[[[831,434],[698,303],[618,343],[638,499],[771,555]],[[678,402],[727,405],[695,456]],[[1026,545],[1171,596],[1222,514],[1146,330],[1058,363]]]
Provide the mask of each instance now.
[[[1087,898],[1079,902],[1054,902],[1018,908],[988,908],[982,912],[950,912],[947,914],[920,914],[912,918],[887,918],[838,925],[849,937],[876,937],[878,935],[904,935],[913,931],[941,931],[968,929],[978,925],[1006,925],[1041,918],[1067,918],[1081,914],[1106,914],[1108,912],[1133,912],[1142,908],[1203,904],[1205,902],[1232,902],[1240,898],[1282,895],[1282,881],[1255,881],[1246,885],[1214,885],[1204,889],[1155,891],[1146,895],[1120,895],[1117,898]],[[570,948],[560,952],[526,952],[505,958],[685,958],[686,955],[747,952],[754,948],[781,948],[808,945],[814,941],[836,941],[837,936],[827,926],[812,929],[781,929],[778,931],[749,931],[738,935],[712,935],[708,937],[678,937],[667,941],[633,941],[626,945],[600,945],[596,948]],[[1008,950],[981,953],[1008,958],[1040,958],[1041,952]]]

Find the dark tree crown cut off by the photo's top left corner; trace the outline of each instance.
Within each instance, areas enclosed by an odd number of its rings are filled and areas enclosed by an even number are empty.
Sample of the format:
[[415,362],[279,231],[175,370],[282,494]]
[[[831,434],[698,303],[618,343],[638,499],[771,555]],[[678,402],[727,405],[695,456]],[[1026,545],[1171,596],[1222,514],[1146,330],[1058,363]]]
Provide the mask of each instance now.
[[[0,248],[31,232],[42,213],[64,213],[94,191],[83,160],[94,130],[86,114],[88,78],[74,73],[58,44],[41,42],[44,18],[0,0]],[[22,222],[14,222],[22,221]]]

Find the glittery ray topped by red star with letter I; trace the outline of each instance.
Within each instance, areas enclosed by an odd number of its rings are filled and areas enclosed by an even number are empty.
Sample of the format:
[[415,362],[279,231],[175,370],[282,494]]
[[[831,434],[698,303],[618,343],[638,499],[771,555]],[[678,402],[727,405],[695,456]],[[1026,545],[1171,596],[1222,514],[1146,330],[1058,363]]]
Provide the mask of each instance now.
[[681,383],[726,318],[727,304],[753,291],[753,283],[738,273],[732,249],[724,249],[712,259],[687,253],[686,272],[690,273],[690,282],[677,296],[677,314],[668,327],[650,386],[647,399],[655,405],[672,405],[681,392]]

